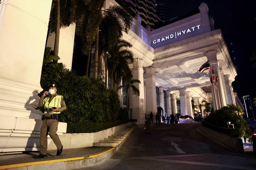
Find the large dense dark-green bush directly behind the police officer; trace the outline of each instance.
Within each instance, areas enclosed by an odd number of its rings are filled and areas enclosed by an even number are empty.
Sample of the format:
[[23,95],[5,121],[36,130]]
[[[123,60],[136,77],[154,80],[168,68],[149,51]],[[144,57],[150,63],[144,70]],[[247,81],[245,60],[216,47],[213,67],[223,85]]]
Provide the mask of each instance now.
[[[62,63],[52,63],[43,69],[41,86],[47,91],[57,84],[67,109],[61,113],[64,122],[108,122],[117,120],[121,104],[118,95],[106,88],[102,79],[78,76]],[[40,93],[40,96],[44,92]]]

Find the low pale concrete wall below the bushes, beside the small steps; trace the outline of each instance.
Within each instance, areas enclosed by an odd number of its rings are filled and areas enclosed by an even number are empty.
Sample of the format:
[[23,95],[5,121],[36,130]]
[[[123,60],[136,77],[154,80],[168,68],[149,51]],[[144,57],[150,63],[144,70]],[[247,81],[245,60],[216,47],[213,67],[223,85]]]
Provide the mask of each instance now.
[[[91,147],[93,146],[93,143],[104,140],[104,138],[111,136],[116,131],[120,131],[126,126],[134,124],[134,122],[128,122],[126,124],[111,127],[109,129],[105,129],[95,133],[63,134],[62,136],[60,136],[60,139],[64,149]],[[53,141],[50,141],[48,145],[48,150],[56,150],[56,146],[54,145]]]

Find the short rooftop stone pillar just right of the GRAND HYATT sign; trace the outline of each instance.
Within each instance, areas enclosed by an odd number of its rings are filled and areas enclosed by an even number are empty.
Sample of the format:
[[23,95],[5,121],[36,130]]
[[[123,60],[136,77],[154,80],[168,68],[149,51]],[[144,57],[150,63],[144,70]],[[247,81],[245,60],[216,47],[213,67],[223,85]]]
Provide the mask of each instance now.
[[200,15],[201,15],[201,21],[202,21],[202,30],[203,32],[209,32],[211,31],[211,25],[210,25],[210,20],[209,20],[209,15],[208,11],[209,8],[205,2],[201,3],[200,6],[198,7],[200,10]]

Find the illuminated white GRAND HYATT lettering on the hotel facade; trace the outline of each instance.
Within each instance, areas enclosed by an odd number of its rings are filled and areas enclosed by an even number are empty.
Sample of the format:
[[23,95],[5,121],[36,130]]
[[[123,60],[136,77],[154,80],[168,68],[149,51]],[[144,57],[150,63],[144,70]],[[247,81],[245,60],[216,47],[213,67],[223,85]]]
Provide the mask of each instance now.
[[174,32],[172,34],[169,34],[168,36],[163,36],[161,39],[155,39],[153,41],[153,44],[161,43],[163,41],[167,41],[168,39],[173,39],[173,38],[177,39],[179,36],[183,36],[184,34],[188,34],[189,32],[194,32],[198,29],[200,29],[200,25],[196,25],[195,27],[184,29],[179,32]]

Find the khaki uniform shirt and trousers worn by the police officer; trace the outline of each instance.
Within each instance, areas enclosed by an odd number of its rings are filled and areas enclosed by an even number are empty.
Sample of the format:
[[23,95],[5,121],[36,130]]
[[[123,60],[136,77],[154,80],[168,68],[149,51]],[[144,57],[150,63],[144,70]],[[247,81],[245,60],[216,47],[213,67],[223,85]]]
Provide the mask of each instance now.
[[[49,102],[56,97],[56,93],[54,95],[51,95],[51,98],[49,99]],[[59,111],[63,111],[67,109],[65,101],[63,100],[63,97],[61,98],[61,107],[58,109]],[[41,97],[39,100],[39,107],[42,107],[44,104],[44,98]],[[45,117],[51,117],[52,113],[45,113]],[[56,145],[57,149],[60,150],[62,147],[61,141],[57,135],[58,130],[58,120],[56,119],[44,119],[41,126],[40,131],[40,153],[46,155],[47,154],[47,135],[49,134],[51,139],[54,141],[54,144]]]

